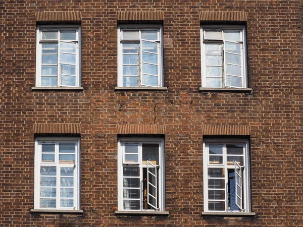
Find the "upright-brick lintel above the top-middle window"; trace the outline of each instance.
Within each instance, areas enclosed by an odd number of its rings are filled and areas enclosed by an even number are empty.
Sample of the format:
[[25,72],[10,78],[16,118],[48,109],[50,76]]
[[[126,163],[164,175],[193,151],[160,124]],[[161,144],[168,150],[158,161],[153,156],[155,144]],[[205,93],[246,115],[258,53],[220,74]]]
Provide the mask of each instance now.
[[118,21],[163,21],[162,11],[118,11]]

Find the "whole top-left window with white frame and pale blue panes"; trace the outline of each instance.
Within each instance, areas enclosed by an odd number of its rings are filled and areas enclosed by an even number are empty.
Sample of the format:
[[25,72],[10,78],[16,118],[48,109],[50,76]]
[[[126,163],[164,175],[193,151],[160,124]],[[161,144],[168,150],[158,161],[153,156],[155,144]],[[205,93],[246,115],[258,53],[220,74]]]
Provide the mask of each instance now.
[[38,26],[37,87],[80,86],[80,26]]

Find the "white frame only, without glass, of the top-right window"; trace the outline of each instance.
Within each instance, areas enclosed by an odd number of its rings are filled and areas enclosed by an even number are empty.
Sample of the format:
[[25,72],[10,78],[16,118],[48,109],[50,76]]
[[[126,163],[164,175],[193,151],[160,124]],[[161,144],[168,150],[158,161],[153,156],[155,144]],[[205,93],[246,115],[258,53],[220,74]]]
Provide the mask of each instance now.
[[[223,39],[205,39],[205,31],[240,31],[241,40],[240,41],[229,41]],[[246,31],[245,26],[242,25],[202,25],[200,27],[200,37],[201,37],[201,86],[203,88],[212,88],[207,86],[206,77],[206,43],[222,43],[222,86],[213,87],[216,88],[247,88],[247,60],[246,60]],[[225,85],[225,42],[234,42],[241,44],[241,86],[227,86]],[[224,43],[224,44],[223,44]],[[219,77],[218,77],[219,78]]]

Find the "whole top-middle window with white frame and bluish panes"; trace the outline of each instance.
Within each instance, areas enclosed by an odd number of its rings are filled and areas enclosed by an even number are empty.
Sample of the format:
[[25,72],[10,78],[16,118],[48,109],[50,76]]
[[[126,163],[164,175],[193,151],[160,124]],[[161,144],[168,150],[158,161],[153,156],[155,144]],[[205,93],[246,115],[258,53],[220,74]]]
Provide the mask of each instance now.
[[118,86],[163,87],[162,26],[118,27]]

